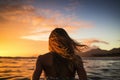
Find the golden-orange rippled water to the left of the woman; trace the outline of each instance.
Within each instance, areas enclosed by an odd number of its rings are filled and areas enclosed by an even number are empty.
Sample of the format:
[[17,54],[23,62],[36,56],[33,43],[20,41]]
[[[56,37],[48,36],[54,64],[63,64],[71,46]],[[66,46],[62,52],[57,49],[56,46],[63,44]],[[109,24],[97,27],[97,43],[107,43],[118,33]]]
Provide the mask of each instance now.
[[35,59],[0,59],[0,78],[30,78]]

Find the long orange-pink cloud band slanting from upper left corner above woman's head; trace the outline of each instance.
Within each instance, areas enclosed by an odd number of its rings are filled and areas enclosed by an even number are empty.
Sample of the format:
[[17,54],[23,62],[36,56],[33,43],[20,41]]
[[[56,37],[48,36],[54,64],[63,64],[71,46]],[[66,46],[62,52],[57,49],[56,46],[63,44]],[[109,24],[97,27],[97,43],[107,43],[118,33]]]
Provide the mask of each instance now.
[[[2,22],[18,21],[40,27],[71,26],[71,28],[80,28],[89,27],[92,24],[78,20],[75,15],[64,14],[59,10],[36,8],[31,2],[32,0],[1,0],[0,20]],[[77,3],[77,0],[71,1],[69,5],[74,6]]]

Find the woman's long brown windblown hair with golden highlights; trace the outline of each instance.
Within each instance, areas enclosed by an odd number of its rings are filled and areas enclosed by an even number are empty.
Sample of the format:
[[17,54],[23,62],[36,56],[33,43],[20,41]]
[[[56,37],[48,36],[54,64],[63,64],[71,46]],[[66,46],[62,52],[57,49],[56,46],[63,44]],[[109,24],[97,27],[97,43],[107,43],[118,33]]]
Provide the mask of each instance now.
[[79,58],[76,57],[76,51],[80,52],[80,43],[70,38],[63,28],[55,28],[49,36],[49,50],[55,52],[65,59],[79,64]]

